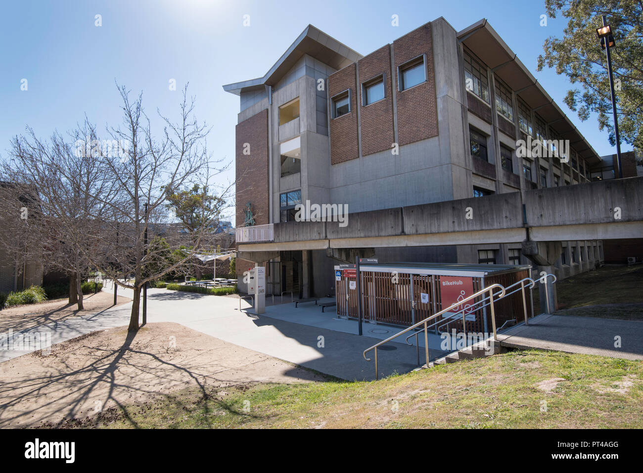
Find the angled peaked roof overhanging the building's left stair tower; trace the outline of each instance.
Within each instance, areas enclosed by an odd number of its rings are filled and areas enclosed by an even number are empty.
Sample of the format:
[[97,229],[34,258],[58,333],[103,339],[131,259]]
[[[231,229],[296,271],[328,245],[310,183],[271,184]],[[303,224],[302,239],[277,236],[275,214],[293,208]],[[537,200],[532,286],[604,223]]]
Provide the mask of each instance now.
[[226,84],[223,90],[239,95],[242,92],[262,90],[264,85],[275,85],[305,54],[338,70],[362,58],[361,54],[309,24],[266,75]]

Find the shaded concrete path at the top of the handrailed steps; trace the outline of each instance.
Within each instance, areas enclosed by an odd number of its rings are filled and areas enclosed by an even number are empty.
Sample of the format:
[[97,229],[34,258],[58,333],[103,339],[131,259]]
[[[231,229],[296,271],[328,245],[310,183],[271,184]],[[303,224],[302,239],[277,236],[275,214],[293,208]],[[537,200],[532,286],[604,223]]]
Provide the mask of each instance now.
[[[615,346],[620,337],[620,346]],[[543,314],[507,330],[498,339],[513,348],[643,360],[643,322]]]

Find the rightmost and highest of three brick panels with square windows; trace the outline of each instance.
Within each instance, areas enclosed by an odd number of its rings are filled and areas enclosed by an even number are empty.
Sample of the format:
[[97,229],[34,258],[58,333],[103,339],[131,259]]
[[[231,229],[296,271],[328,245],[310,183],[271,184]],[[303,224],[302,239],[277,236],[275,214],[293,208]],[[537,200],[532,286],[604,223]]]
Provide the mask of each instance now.
[[[393,42],[395,56],[395,91],[397,91],[397,135],[399,145],[438,136],[435,70],[431,25],[425,24]],[[397,67],[426,54],[426,82],[399,92]]]

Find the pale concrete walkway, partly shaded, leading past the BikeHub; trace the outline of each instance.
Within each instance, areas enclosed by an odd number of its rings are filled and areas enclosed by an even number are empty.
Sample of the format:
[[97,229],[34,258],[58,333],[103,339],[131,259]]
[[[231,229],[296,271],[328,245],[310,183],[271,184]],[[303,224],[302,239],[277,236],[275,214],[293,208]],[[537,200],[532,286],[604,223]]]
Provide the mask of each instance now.
[[[106,292],[111,292],[107,290]],[[120,296],[131,296],[131,290],[118,290]],[[249,308],[246,301],[242,307]],[[291,314],[293,304],[267,307],[267,315],[283,312]],[[276,319],[269,316],[257,316],[239,310],[239,299],[232,297],[213,297],[190,292],[179,292],[166,289],[148,290],[147,303],[148,323],[176,322],[188,328],[212,335],[222,341],[234,343],[257,352],[266,353],[285,361],[293,362],[321,371],[341,379],[371,380],[375,379],[375,364],[362,357],[366,348],[377,343],[378,339],[390,334],[370,334],[368,330],[376,325],[365,324],[365,335],[349,333],[349,326],[357,330],[355,321],[335,321],[347,327],[346,331],[331,330],[323,326],[302,325]],[[298,308],[296,315],[321,312],[314,306]],[[131,304],[109,308],[95,316],[69,317],[64,323],[34,327],[23,333],[51,331],[51,343],[60,343],[113,326],[127,325]],[[332,319],[334,314],[324,314]],[[320,324],[321,325],[321,324]],[[388,330],[391,330],[390,328]],[[417,367],[417,355],[414,346],[401,343],[387,344],[384,350],[378,351],[380,377],[395,371],[405,373]],[[23,355],[26,352],[0,352],[0,361]],[[431,357],[439,355],[431,352]],[[421,353],[421,362],[424,357]]]

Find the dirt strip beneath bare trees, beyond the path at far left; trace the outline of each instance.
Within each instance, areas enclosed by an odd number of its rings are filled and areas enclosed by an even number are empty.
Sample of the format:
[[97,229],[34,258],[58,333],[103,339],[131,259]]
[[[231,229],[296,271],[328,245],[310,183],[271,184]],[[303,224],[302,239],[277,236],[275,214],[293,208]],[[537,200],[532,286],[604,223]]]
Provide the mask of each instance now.
[[[130,298],[118,296],[116,305],[131,302]],[[107,308],[114,307],[114,295],[109,292],[87,294],[83,298],[83,310],[78,310],[78,305],[68,304],[68,299],[55,299],[41,304],[21,305],[19,307],[0,310],[0,333],[10,328],[14,332],[28,330],[37,325],[54,321],[62,321],[69,317],[96,314]]]

